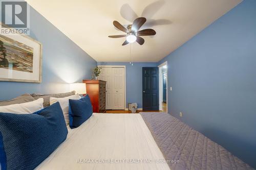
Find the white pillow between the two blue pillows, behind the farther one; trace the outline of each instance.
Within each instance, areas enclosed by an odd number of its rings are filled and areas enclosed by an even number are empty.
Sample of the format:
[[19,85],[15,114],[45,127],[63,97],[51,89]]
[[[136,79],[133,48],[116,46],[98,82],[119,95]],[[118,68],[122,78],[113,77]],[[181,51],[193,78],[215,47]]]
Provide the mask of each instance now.
[[66,125],[69,125],[69,99],[80,99],[79,94],[67,96],[66,98],[50,98],[50,105],[59,102],[60,107],[62,109]]

